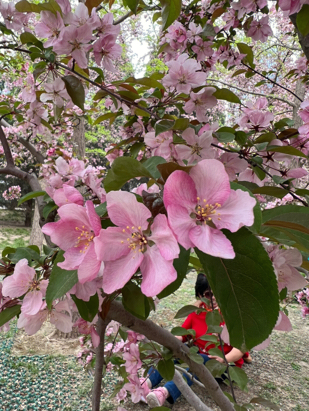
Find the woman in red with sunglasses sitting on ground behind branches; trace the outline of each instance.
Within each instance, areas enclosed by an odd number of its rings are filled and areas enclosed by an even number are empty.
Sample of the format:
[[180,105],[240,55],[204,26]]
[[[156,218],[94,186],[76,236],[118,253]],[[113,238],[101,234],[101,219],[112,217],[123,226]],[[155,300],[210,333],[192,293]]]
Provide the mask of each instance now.
[[[210,291],[210,287],[209,287],[206,276],[202,273],[199,273],[197,275],[197,281],[195,283],[195,296],[196,298],[203,298],[203,297],[208,298],[210,301],[212,301],[213,309],[218,309],[216,298]],[[189,316],[186,318],[186,320],[182,324],[182,327],[186,328],[187,330],[188,329],[195,330],[195,339],[193,341],[193,344],[198,347],[199,354],[204,359],[204,364],[210,359],[215,359],[219,361],[220,363],[224,363],[223,358],[218,357],[218,356],[208,355],[208,351],[211,348],[214,348],[215,344],[213,342],[200,339],[202,335],[207,334],[207,324],[205,322],[205,318],[206,318],[207,312],[212,311],[212,307],[205,304],[201,300],[197,300],[196,305],[197,307],[203,307],[204,309],[206,309],[206,311],[202,311],[199,314],[197,314],[196,312],[189,314]],[[222,325],[223,324],[224,323],[222,323]],[[182,342],[186,342],[188,340],[186,336],[176,336],[176,338],[180,339]],[[219,349],[221,349],[220,346],[219,346]],[[233,348],[232,346],[228,344],[224,344],[223,350],[224,350],[225,359],[227,363],[235,363],[237,367],[242,366],[242,364],[244,363],[244,360],[242,358],[244,356],[244,353],[242,351],[238,350],[237,348]],[[193,384],[193,381],[189,379],[186,375],[184,376],[188,382],[188,385],[191,386]],[[159,388],[155,388],[151,390],[152,387],[155,387],[156,385],[158,385],[162,380],[163,380],[163,377],[159,374],[158,370],[156,369],[149,370],[149,375],[144,384],[147,384],[149,388],[149,393],[146,396],[146,400],[147,400],[148,405],[151,408],[162,406],[165,400],[167,400],[170,404],[174,404],[176,399],[181,395],[181,392],[179,391],[179,389],[177,388],[176,384],[173,381],[168,381],[167,383],[165,383],[163,387],[159,387]]]

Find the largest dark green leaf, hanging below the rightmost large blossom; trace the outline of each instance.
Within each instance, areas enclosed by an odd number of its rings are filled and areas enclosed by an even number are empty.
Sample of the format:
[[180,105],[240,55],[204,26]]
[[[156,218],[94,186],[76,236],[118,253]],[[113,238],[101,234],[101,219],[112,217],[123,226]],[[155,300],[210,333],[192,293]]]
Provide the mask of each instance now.
[[222,230],[232,242],[234,259],[204,254],[195,248],[230,335],[230,344],[243,352],[263,342],[279,313],[274,268],[261,242],[246,228]]

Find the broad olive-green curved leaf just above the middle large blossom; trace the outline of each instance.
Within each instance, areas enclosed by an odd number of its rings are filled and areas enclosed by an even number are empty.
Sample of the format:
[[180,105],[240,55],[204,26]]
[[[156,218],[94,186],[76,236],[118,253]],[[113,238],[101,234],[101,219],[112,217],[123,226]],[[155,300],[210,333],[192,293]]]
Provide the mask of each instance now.
[[112,168],[106,175],[104,188],[107,193],[112,190],[119,190],[127,181],[134,177],[154,178],[137,159],[117,157],[114,159]]

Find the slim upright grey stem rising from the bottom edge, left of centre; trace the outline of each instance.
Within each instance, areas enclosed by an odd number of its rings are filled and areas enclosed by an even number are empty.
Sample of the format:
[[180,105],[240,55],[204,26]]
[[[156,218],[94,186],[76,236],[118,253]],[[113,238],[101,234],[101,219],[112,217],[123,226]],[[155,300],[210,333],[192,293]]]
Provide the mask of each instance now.
[[100,344],[95,350],[95,374],[92,390],[92,411],[100,411],[100,397],[102,390],[102,375],[105,365],[104,359],[104,337],[107,322],[100,316],[97,323],[97,332],[100,336]]

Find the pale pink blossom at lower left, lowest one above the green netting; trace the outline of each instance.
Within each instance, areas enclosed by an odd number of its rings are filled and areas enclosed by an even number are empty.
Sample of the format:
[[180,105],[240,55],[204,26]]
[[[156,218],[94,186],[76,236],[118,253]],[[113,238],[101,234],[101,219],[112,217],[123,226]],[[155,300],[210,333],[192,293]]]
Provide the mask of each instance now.
[[50,322],[62,332],[72,331],[71,316],[64,314],[63,311],[70,312],[70,307],[67,300],[59,301],[52,306],[51,311],[46,307],[44,301],[42,307],[37,314],[28,315],[21,313],[17,321],[17,328],[25,328],[28,335],[33,335],[42,327],[42,324],[49,318]]

